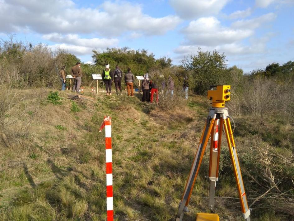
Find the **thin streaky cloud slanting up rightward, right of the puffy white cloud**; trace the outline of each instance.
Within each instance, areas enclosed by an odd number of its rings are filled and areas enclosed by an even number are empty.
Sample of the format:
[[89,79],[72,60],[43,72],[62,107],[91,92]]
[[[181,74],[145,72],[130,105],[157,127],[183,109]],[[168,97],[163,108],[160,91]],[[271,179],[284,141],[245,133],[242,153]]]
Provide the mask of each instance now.
[[264,22],[270,22],[276,19],[277,15],[274,13],[268,13],[253,19],[248,19],[248,20],[239,20],[234,22],[231,26],[234,28],[250,28],[250,29],[255,29],[261,26],[262,23]]

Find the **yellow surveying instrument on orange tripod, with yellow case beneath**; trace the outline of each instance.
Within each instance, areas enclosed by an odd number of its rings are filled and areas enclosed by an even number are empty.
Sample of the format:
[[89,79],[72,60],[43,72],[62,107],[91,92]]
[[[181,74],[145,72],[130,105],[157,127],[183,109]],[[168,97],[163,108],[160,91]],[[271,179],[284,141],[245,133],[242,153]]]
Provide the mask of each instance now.
[[189,199],[192,194],[194,183],[199,172],[200,164],[203,159],[203,155],[209,137],[211,137],[208,176],[210,180],[209,209],[212,213],[198,213],[196,221],[219,220],[218,215],[213,213],[213,206],[215,186],[216,181],[218,180],[218,167],[221,152],[222,129],[224,129],[226,140],[228,143],[228,148],[230,151],[243,217],[246,221],[250,221],[250,209],[248,208],[247,204],[228,108],[225,107],[225,102],[230,100],[230,91],[230,85],[213,85],[210,86],[210,90],[208,90],[207,97],[209,100],[212,101],[212,107],[209,110],[206,125],[204,126],[202,136],[197,147],[196,154],[194,156],[194,161],[190,169],[188,180],[184,189],[184,194],[179,205],[176,221],[181,221],[184,217],[184,212],[189,212]]

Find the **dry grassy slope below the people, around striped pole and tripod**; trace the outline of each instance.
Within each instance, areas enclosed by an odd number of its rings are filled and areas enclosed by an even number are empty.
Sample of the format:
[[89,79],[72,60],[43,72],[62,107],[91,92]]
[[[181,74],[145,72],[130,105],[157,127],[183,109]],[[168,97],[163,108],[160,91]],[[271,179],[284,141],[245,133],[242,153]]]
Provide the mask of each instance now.
[[[109,115],[115,219],[174,220],[208,115],[206,98],[191,96],[167,110],[126,95],[71,101],[65,92],[48,99],[49,92],[2,97],[0,219],[105,220],[105,143],[98,129]],[[248,202],[259,199],[251,206],[253,220],[292,220],[293,126],[234,120]],[[208,211],[208,149],[184,220]],[[224,139],[215,210],[221,220],[243,220]]]

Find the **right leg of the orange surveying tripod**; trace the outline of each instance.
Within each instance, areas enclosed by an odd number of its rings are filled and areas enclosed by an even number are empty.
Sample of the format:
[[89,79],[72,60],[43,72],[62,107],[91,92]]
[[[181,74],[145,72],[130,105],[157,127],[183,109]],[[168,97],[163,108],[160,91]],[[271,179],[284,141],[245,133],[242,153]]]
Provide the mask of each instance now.
[[235,179],[236,179],[236,183],[237,183],[237,187],[238,187],[243,217],[246,221],[250,221],[250,217],[249,217],[250,210],[249,210],[248,204],[247,204],[245,188],[244,188],[241,169],[240,169],[239,160],[238,160],[238,156],[237,156],[237,150],[235,147],[235,141],[234,141],[234,137],[233,137],[233,133],[232,133],[231,123],[230,123],[229,118],[226,117],[224,114],[222,114],[222,120],[223,120],[223,124],[224,124],[226,140],[227,140],[230,155],[231,155],[231,161],[232,161],[232,165],[233,165]]

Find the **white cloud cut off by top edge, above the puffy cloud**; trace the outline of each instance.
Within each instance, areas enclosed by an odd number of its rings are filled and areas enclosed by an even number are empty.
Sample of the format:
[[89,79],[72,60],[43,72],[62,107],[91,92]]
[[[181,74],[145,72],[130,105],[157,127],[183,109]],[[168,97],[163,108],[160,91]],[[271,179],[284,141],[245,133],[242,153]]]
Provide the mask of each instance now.
[[229,0],[170,0],[180,17],[191,19],[218,14]]

